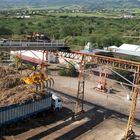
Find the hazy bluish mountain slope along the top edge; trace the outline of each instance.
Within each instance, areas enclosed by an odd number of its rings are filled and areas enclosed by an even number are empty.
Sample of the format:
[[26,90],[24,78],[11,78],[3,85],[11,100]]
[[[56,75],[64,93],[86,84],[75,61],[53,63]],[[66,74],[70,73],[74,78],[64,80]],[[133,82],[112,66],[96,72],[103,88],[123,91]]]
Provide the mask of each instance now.
[[70,6],[80,5],[83,8],[133,8],[140,6],[140,0],[0,0],[0,8]]

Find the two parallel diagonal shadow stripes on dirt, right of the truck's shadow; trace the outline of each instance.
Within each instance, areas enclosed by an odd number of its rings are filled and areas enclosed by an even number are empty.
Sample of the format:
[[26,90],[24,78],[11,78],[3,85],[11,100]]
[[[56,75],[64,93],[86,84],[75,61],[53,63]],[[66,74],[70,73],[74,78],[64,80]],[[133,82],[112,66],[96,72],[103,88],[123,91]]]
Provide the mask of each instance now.
[[87,132],[88,130],[92,129],[94,126],[96,126],[97,124],[99,124],[100,122],[102,122],[104,120],[105,113],[98,112],[98,109],[99,109],[98,107],[94,107],[93,109],[87,111],[86,113],[84,113],[80,117],[77,117],[76,119],[68,120],[60,125],[57,125],[51,129],[48,129],[42,133],[39,133],[39,134],[29,138],[28,140],[39,140],[39,139],[41,139],[41,138],[59,130],[59,129],[62,129],[62,128],[70,125],[75,120],[79,120],[79,119],[84,118],[85,116],[86,117],[88,116],[90,118],[89,121],[87,121],[86,123],[84,123],[83,125],[80,125],[79,127],[75,128],[75,129],[65,133],[61,137],[56,138],[56,140],[74,139],[74,138],[80,136],[81,134]]

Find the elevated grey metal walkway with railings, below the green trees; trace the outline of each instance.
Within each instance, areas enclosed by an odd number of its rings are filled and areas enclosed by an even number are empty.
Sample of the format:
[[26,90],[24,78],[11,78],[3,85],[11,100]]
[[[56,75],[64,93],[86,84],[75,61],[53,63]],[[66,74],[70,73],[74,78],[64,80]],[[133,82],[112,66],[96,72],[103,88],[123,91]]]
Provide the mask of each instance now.
[[46,42],[18,42],[18,41],[7,41],[0,43],[1,50],[59,50],[67,51],[69,47],[65,43],[46,43]]

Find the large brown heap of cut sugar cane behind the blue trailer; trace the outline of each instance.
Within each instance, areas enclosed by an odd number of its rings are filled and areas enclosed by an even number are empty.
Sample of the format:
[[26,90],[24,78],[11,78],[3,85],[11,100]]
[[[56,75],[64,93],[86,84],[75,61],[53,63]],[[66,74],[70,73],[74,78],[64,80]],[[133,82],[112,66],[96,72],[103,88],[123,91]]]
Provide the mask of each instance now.
[[47,94],[45,90],[36,91],[35,85],[23,84],[20,79],[14,68],[0,66],[0,107],[40,100]]

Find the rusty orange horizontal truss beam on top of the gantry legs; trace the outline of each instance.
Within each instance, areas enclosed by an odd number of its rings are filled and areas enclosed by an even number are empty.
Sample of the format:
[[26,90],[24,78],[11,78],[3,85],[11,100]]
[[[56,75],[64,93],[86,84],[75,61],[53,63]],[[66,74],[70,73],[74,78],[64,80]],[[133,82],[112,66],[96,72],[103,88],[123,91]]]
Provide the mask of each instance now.
[[95,64],[99,65],[106,65],[110,68],[130,71],[130,72],[136,72],[138,70],[138,67],[140,66],[140,63],[133,62],[133,61],[127,61],[112,57],[106,57],[101,55],[94,55],[94,54],[86,54],[86,53],[80,53],[80,52],[59,52],[59,56],[74,59],[81,61],[82,55],[84,55],[84,61],[85,62],[93,62]]

